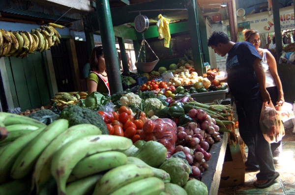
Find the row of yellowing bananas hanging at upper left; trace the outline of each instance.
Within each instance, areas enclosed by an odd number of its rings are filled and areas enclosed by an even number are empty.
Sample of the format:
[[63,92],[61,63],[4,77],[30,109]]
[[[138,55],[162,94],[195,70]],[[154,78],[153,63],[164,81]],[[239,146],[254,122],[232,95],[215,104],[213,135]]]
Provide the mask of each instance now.
[[64,26],[48,23],[46,26],[27,31],[6,31],[0,29],[0,57],[27,57],[29,54],[44,52],[60,43],[60,34],[55,28]]

